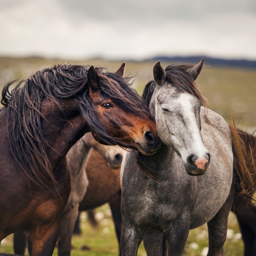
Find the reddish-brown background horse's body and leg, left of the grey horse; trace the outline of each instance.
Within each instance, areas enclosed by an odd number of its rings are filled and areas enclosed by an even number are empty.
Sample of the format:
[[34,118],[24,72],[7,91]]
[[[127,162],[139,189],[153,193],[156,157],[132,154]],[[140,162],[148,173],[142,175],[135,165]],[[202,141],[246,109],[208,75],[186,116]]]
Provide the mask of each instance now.
[[[115,225],[120,253],[121,236],[121,184],[120,168],[114,169],[108,165],[96,150],[91,150],[86,165],[86,174],[89,180],[87,191],[79,204],[79,211],[87,211],[109,203]],[[97,223],[93,213],[89,215],[90,221]],[[78,222],[79,223],[79,222]]]

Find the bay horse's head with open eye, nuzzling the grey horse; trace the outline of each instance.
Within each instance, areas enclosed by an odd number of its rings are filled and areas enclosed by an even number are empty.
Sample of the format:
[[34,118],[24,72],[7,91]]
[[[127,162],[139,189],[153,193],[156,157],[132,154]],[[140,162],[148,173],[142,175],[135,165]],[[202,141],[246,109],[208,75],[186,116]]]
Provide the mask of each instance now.
[[161,145],[156,124],[142,98],[123,78],[124,65],[115,73],[89,68],[85,95],[91,102],[86,109],[88,124],[94,138],[103,144],[136,148],[151,155]]

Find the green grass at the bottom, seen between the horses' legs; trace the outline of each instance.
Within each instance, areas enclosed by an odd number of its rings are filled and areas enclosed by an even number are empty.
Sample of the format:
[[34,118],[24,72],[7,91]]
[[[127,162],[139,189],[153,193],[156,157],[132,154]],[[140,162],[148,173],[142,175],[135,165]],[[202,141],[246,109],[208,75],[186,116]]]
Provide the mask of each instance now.
[[[116,256],[118,255],[118,245],[111,212],[107,204],[97,209],[96,216],[99,219],[99,228],[93,229],[87,222],[86,214],[81,216],[82,235],[73,236],[72,256]],[[236,217],[232,213],[229,216],[229,236],[225,243],[225,256],[241,256],[243,253],[243,243],[236,236],[240,232]],[[90,247],[89,251],[81,251],[83,245]],[[195,247],[193,247],[195,246]],[[208,246],[207,226],[203,225],[189,232],[189,237],[185,247],[184,255],[200,256],[202,250]],[[0,252],[12,253],[12,235],[5,238],[1,244]],[[57,249],[54,250],[54,256],[57,256]],[[140,245],[139,256],[146,256],[143,244]]]

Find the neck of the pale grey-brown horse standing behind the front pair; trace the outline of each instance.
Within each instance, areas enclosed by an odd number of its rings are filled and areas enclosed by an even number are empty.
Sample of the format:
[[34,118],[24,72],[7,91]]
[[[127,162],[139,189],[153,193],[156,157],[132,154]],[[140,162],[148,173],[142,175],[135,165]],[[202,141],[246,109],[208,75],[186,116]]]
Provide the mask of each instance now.
[[83,174],[87,159],[90,155],[91,146],[86,143],[84,136],[75,143],[73,147],[68,151],[67,161],[71,176],[79,176]]

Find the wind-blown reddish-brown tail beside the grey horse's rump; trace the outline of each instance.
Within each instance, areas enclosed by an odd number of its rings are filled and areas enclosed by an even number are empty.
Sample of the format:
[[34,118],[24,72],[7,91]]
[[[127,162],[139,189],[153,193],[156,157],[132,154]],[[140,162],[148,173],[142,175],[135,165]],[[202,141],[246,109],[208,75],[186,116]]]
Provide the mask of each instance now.
[[234,118],[229,128],[233,140],[236,193],[252,200],[256,191],[256,137],[237,129]]

